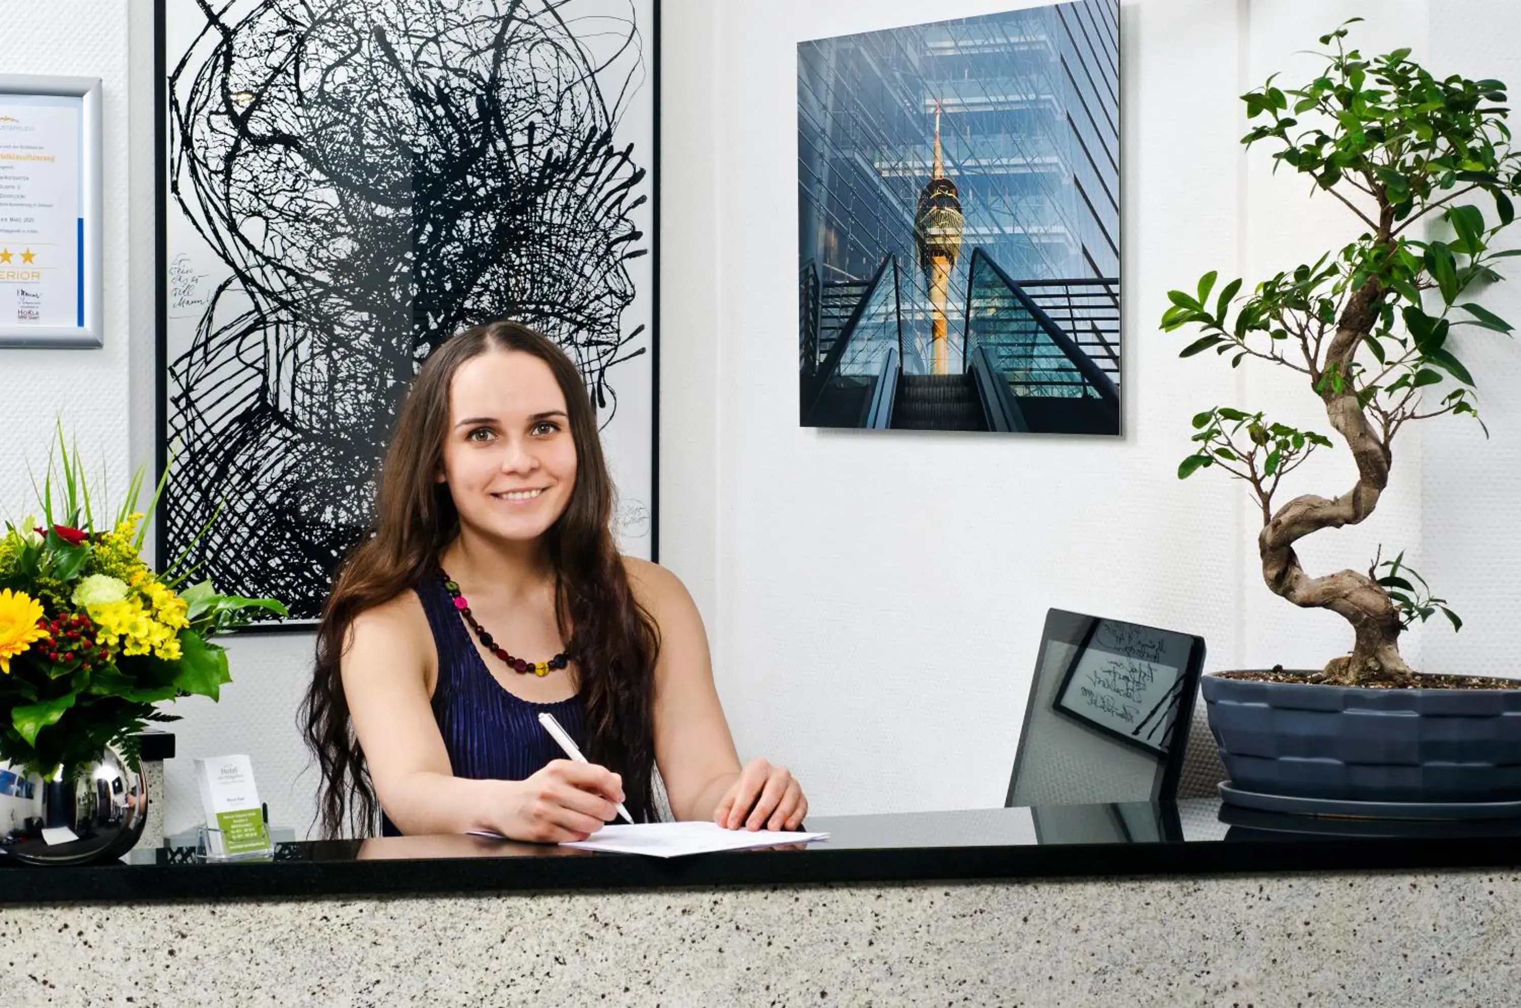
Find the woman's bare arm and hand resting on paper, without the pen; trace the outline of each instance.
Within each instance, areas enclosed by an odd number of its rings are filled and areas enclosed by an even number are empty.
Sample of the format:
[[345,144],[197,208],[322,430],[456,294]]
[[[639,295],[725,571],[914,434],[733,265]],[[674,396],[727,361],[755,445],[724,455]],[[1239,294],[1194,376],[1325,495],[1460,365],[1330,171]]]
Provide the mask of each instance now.
[[713,687],[703,617],[686,585],[648,561],[625,558],[634,596],[660,628],[656,660],[656,763],[677,819],[729,829],[794,829],[808,800],[786,768],[751,760],[741,768]]

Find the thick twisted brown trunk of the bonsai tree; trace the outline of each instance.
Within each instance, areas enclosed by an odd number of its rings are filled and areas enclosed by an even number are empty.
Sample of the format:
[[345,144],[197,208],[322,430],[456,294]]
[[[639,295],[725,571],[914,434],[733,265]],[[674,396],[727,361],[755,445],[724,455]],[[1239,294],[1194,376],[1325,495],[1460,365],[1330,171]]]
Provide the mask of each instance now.
[[[1387,243],[1387,223],[1381,237]],[[1410,686],[1416,675],[1399,655],[1399,611],[1384,587],[1357,570],[1311,578],[1294,552],[1294,543],[1311,532],[1357,525],[1373,514],[1378,497],[1389,485],[1389,444],[1367,423],[1351,380],[1352,357],[1373,331],[1384,293],[1378,283],[1369,281],[1348,298],[1325,368],[1311,374],[1331,426],[1352,450],[1357,482],[1334,500],[1314,494],[1294,497],[1272,517],[1264,515],[1265,523],[1256,540],[1269,588],[1294,605],[1331,610],[1352,625],[1352,654],[1334,658],[1322,672],[1322,681],[1342,686],[1375,681]],[[1346,376],[1346,380],[1334,380],[1334,376]]]

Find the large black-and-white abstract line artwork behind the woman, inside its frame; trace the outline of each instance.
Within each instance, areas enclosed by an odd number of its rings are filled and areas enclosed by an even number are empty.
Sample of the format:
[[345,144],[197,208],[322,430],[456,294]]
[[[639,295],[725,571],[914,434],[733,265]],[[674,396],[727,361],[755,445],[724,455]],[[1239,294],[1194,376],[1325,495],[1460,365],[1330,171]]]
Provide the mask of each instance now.
[[576,360],[654,558],[659,0],[157,0],[155,35],[160,558],[309,628],[420,362],[493,318]]

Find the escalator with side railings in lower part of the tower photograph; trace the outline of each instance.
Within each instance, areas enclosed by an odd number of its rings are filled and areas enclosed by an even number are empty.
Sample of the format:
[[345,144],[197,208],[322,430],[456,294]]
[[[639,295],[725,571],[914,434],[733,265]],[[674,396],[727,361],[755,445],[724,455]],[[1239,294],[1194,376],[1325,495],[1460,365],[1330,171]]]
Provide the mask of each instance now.
[[834,286],[809,266],[802,287],[803,426],[1119,433],[1115,280],[1015,281],[978,248],[964,315],[932,338],[896,257]]

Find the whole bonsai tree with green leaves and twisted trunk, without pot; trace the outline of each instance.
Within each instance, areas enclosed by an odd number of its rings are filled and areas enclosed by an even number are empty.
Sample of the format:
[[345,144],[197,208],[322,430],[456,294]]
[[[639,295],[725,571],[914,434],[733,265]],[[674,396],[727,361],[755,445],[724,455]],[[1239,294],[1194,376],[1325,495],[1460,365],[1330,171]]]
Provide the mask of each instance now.
[[1408,49],[1364,58],[1345,47],[1351,23],[1320,36],[1326,64],[1313,81],[1281,88],[1269,78],[1241,96],[1247,119],[1265,120],[1241,143],[1272,146],[1275,170],[1307,175],[1311,193],[1340,201],[1361,234],[1246,296],[1238,296],[1240,280],[1212,296],[1217,274],[1205,274],[1196,292],[1168,292],[1173,306],[1162,328],[1203,330],[1183,357],[1214,350],[1230,366],[1253,359],[1297,371],[1325,404],[1355,464],[1340,496],[1305,494],[1275,506],[1282,479],[1317,449],[1332,447],[1331,439],[1223,406],[1194,417],[1194,453],[1177,474],[1221,468],[1244,480],[1261,505],[1267,587],[1352,625],[1351,654],[1314,681],[1411,686],[1399,634],[1437,611],[1462,626],[1445,601],[1431,596],[1402,553],[1383,563],[1380,553],[1366,573],[1314,576],[1294,544],[1373,514],[1407,424],[1445,415],[1478,420],[1474,379],[1450,338],[1460,325],[1510,331],[1472,298],[1500,280],[1497,260],[1521,254],[1494,251],[1497,233],[1515,217],[1521,158],[1510,147],[1500,81],[1439,81],[1410,61]]

